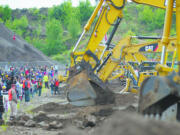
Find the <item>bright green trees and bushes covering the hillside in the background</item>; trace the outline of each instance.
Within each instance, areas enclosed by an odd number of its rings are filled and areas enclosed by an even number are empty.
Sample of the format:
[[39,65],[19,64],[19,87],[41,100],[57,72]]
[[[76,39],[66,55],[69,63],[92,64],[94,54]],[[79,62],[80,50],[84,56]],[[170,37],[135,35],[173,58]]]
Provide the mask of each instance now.
[[[94,8],[89,0],[80,1],[77,7],[73,7],[71,0],[68,0],[48,8],[46,14],[41,13],[41,9],[33,8],[20,17],[16,13],[16,17],[8,6],[0,6],[0,22],[44,54],[63,60],[70,53]],[[119,28],[121,35],[161,34],[159,31],[163,29],[165,10],[130,2],[126,4],[123,14]],[[175,23],[172,27],[175,28]],[[171,34],[175,34],[175,29]]]

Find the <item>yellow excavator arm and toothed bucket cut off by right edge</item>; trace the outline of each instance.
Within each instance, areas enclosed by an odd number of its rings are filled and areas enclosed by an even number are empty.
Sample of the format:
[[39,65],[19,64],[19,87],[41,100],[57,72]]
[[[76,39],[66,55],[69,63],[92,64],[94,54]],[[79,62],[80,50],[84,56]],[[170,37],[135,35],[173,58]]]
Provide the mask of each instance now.
[[[146,1],[146,0],[145,0]],[[162,0],[163,3],[166,1]],[[160,3],[159,3],[160,4]],[[164,66],[166,58],[166,48],[168,46],[170,29],[172,23],[172,14],[176,14],[176,34],[177,34],[177,61],[178,72]],[[162,57],[161,64],[156,66],[158,72],[162,76],[150,77],[146,79],[140,88],[139,112],[142,114],[162,116],[162,114],[170,107],[173,109],[169,112],[176,115],[180,120],[179,100],[180,100],[180,0],[168,0],[166,6],[166,17],[164,23],[164,31],[162,37]]]

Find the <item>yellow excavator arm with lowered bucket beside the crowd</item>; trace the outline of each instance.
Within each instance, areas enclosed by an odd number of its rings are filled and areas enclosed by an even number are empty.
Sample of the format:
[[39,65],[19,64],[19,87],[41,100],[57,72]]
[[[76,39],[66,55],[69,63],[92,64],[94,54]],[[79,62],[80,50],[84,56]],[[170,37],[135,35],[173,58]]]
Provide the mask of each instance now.
[[[103,53],[108,50],[113,35],[121,21],[122,9],[125,6],[125,2],[125,0],[100,0],[90,20],[85,26],[84,32],[78,40],[73,53],[76,51],[80,40],[85,32],[89,30],[92,22],[95,20],[95,16],[101,8],[102,11],[86,46],[82,61],[71,68],[69,72],[67,98],[72,104],[86,106],[114,102],[113,92],[111,92],[102,80],[94,74],[94,71],[100,65],[100,60],[95,55],[95,51],[104,38],[104,35],[108,32],[110,27],[113,26],[114,28],[106,43],[106,48]],[[95,65],[90,64],[92,59],[96,62]]]

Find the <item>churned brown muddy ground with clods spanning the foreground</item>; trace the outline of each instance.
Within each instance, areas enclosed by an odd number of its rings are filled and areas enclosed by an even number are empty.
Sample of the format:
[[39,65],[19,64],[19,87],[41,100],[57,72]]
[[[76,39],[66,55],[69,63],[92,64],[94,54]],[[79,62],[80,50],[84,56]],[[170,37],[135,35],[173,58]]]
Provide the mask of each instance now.
[[[113,83],[113,90],[121,90]],[[17,118],[2,135],[179,135],[180,124],[145,119],[137,112],[138,97],[132,93],[116,94],[112,105],[75,107],[65,95],[49,92],[21,103]]]

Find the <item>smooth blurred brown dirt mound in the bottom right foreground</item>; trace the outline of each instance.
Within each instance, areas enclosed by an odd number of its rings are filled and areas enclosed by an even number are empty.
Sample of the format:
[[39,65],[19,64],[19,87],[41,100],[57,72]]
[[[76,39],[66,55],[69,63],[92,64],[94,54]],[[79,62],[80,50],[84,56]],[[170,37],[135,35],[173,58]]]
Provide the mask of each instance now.
[[[68,129],[66,135],[73,135],[73,131],[81,135],[87,133],[82,130]],[[84,132],[84,133],[83,133]],[[136,113],[118,112],[111,119],[97,128],[92,135],[178,135],[180,124],[176,122],[156,121],[145,119]]]

